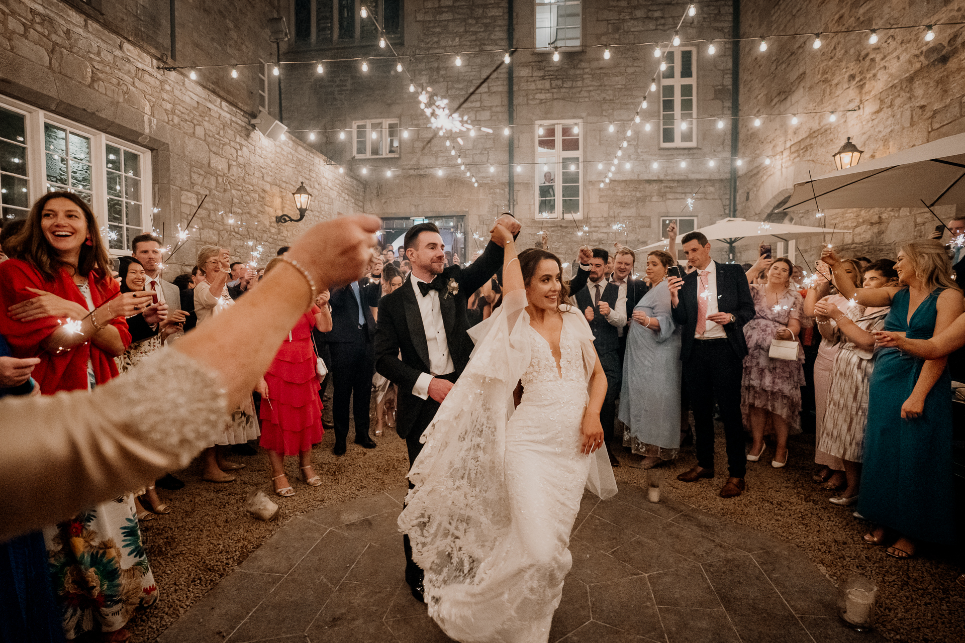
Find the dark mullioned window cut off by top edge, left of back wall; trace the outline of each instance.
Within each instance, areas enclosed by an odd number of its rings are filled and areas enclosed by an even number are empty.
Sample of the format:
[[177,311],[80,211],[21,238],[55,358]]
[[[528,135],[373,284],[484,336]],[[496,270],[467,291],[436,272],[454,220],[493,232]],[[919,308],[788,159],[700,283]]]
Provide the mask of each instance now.
[[[362,6],[372,17],[362,17]],[[291,3],[294,44],[299,47],[374,44],[378,21],[393,43],[402,33],[402,0],[295,0]]]

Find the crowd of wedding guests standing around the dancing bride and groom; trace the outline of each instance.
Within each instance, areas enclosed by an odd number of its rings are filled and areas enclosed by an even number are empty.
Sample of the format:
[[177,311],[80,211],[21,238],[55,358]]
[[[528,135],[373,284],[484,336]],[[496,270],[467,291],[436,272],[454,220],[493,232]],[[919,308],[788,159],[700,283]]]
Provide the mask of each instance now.
[[[965,221],[951,227],[965,229]],[[759,463],[768,448],[770,465],[786,466],[788,436],[801,432],[802,412],[813,403],[814,481],[834,492],[831,503],[854,506],[856,516],[877,525],[865,541],[896,557],[914,555],[918,542],[951,541],[946,361],[958,347],[952,323],[965,308],[951,277],[960,249],[931,239],[906,244],[897,261],[842,258],[827,247],[813,267],[769,252],[738,266],[714,261],[707,239],[691,232],[681,239],[682,266],[676,230],[670,234],[669,252],[645,258],[619,244],[612,252],[584,247],[568,282],[568,302],[593,330],[608,383],[600,422],[611,464],[659,467],[690,441],[697,465],[678,479],[713,478],[716,415],[729,469],[720,496],[740,496],[748,464]],[[210,323],[279,265],[294,264],[288,248],[258,270],[232,262],[227,249],[203,246],[191,271],[168,281],[160,239],[138,235],[130,255],[112,261],[92,210],[69,192],[45,195],[26,220],[2,228],[0,246],[11,257],[0,262],[0,396],[93,390]],[[458,255],[440,250],[425,252],[458,266]],[[362,279],[317,293],[258,386],[207,445],[205,481],[233,482],[245,465],[232,453],[256,453],[251,443],[258,441],[274,492],[293,496],[285,458],[298,458],[305,485],[321,485],[312,450],[326,428],[335,433],[337,456],[345,454],[349,434],[358,447],[372,449],[373,437],[399,430],[400,389],[375,372],[374,337],[382,297],[407,287],[419,306],[436,301],[427,297],[435,286],[410,279],[422,252],[407,246],[397,256],[387,246]],[[460,323],[471,327],[500,306],[500,277],[483,275],[457,300],[465,308]],[[444,340],[445,329],[438,331]],[[435,345],[427,356],[452,360]],[[437,370],[445,372],[445,364]],[[329,379],[333,424],[326,427]],[[436,399],[438,391],[420,395],[419,387],[411,393]],[[6,577],[16,569],[49,565],[52,586],[19,599],[58,615],[44,626],[48,639],[93,632],[124,640],[134,608],[157,598],[139,523],[171,511],[156,487],[183,484],[169,473],[3,545],[22,564],[4,568],[0,597],[16,586],[15,577]],[[105,549],[114,553],[106,556]]]

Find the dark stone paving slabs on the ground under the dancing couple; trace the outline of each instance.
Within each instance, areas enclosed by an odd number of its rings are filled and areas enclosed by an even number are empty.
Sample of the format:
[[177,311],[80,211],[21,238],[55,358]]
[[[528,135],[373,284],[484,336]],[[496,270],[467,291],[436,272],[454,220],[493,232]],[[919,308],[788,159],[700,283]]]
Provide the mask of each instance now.
[[[405,491],[292,519],[157,640],[450,641],[404,582]],[[584,496],[570,551],[553,642],[884,641],[843,626],[837,590],[799,549],[633,485]]]

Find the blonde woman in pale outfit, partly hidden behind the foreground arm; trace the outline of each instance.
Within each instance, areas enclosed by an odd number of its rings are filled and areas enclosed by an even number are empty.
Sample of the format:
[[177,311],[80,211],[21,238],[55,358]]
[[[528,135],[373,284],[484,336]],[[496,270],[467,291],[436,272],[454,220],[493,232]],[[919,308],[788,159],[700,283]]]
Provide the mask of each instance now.
[[[194,312],[198,316],[199,325],[212,315],[234,305],[225,285],[228,275],[231,274],[230,259],[228,251],[217,246],[202,246],[198,252],[198,274],[205,278],[194,286]],[[259,392],[264,394],[264,388],[262,378]],[[255,402],[249,396],[234,410],[224,437],[205,449],[205,471],[202,477],[207,482],[234,482],[234,475],[226,471],[244,469],[245,466],[226,460],[223,449],[218,446],[243,444],[258,438],[261,433],[255,415]]]

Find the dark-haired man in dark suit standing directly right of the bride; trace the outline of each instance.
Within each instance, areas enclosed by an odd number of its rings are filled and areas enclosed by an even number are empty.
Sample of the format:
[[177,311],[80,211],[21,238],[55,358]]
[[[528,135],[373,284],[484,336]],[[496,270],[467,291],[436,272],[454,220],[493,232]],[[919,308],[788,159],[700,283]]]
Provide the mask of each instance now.
[[613,453],[616,448],[613,424],[617,416],[616,400],[622,381],[619,329],[626,326],[626,305],[620,299],[620,286],[606,280],[609,253],[602,248],[593,248],[592,252],[590,270],[578,270],[569,285],[576,298],[576,307],[583,311],[590,322],[593,346],[596,347],[596,355],[606,374],[607,391],[600,409],[600,424],[603,425],[603,436],[609,443],[607,451],[610,464],[620,467],[620,461]]

